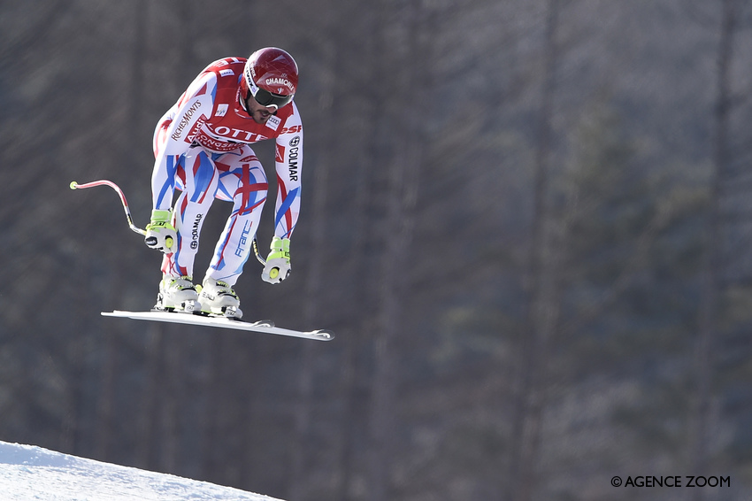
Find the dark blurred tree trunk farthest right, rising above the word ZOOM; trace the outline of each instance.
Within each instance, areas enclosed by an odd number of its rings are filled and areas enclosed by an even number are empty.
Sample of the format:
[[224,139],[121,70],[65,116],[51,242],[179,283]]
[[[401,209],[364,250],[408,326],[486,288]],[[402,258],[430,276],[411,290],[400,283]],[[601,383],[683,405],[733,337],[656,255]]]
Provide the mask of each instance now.
[[[731,64],[733,37],[739,0],[722,0],[723,18],[717,53],[717,89],[714,114],[713,173],[710,179],[710,207],[705,227],[705,256],[702,265],[702,297],[699,312],[699,332],[695,345],[696,403],[694,474],[707,474],[708,442],[710,435],[710,405],[712,400],[713,349],[717,336],[717,312],[720,275],[720,197],[721,182],[728,163],[728,127],[731,111]],[[703,489],[693,492],[694,501],[701,501]]]

